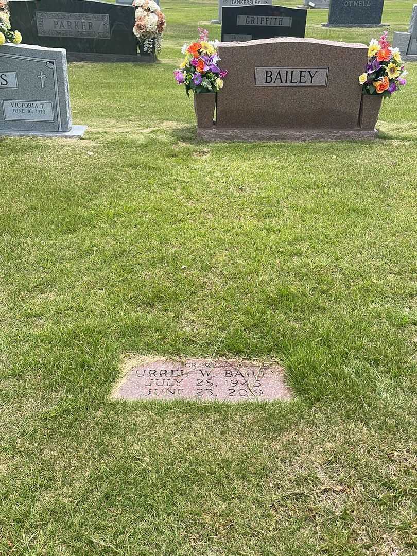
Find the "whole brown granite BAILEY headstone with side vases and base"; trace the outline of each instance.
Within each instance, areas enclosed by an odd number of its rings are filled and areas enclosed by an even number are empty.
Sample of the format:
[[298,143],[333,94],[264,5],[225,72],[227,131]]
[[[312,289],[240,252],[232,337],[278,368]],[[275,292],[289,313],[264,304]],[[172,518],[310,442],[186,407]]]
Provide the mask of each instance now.
[[368,59],[365,44],[287,37],[220,43],[218,52],[229,73],[217,95],[194,95],[198,136],[212,141],[375,136],[381,98],[362,95],[358,81]]

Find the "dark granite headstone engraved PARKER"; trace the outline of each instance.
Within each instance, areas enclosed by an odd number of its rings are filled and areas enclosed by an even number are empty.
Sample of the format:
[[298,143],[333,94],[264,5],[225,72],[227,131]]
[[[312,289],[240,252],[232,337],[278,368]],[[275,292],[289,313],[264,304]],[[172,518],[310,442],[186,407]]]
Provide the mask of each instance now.
[[10,0],[12,27],[28,44],[65,48],[68,60],[136,62],[133,6],[98,0]]

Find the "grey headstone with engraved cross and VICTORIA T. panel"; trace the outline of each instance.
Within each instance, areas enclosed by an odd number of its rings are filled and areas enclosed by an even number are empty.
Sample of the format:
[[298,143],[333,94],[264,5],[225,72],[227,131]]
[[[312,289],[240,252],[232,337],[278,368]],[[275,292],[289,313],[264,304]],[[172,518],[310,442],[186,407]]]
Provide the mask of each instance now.
[[0,135],[81,137],[72,126],[67,58],[62,48],[0,47]]

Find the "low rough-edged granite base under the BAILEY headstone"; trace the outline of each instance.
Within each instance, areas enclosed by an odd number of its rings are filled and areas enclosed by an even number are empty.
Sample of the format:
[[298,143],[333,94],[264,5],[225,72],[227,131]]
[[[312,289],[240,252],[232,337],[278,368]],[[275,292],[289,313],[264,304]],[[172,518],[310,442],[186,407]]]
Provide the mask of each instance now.
[[206,141],[336,141],[374,139],[375,130],[262,130],[262,129],[199,129],[197,136]]

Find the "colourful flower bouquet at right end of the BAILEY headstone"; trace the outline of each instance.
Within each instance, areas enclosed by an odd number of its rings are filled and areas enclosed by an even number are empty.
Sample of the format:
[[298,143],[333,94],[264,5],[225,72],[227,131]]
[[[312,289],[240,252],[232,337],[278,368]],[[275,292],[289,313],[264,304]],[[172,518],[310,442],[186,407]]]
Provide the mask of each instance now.
[[390,97],[406,84],[404,64],[399,48],[391,48],[387,41],[388,31],[377,41],[372,39],[368,48],[368,63],[359,76],[364,95]]

